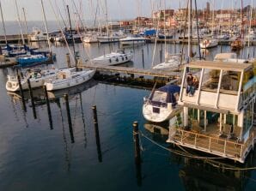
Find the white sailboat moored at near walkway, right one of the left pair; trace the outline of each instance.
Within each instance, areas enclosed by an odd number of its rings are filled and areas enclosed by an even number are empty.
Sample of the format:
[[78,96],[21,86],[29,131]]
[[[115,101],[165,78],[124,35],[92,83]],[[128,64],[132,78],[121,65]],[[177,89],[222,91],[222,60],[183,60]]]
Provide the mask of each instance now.
[[95,74],[95,70],[76,71],[76,68],[59,69],[58,75],[45,82],[46,90],[53,91],[68,87],[75,87],[90,80]]

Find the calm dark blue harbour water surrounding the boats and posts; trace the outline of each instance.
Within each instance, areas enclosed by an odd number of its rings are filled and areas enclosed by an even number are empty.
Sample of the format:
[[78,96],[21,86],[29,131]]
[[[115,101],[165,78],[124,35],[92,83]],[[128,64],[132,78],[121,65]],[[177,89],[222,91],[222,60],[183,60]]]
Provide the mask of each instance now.
[[[100,56],[117,47],[117,44],[85,47],[76,44],[82,60]],[[150,68],[153,47],[131,48],[135,57],[134,62],[128,65]],[[57,53],[56,65],[59,68],[66,66],[64,55],[68,52],[67,48],[63,45],[52,45],[52,48]],[[160,62],[160,50],[161,45],[157,45],[155,63]],[[168,45],[168,50],[174,52],[174,45]],[[176,51],[180,51],[180,45],[176,46]],[[212,49],[207,57],[210,59],[219,51],[218,48]],[[229,47],[223,46],[222,51],[229,51]],[[253,48],[250,52],[253,55]],[[149,91],[90,81],[51,94],[55,98],[51,101],[51,129],[46,104],[40,99],[36,106],[37,119],[34,119],[27,93],[27,112],[22,110],[17,94],[11,96],[6,93],[6,75],[9,73],[10,69],[0,70],[0,190],[256,189],[256,170],[219,170],[215,167],[218,165],[215,161],[183,158],[143,137],[140,137],[142,169],[137,170],[132,140],[133,121],[139,122],[143,134],[157,144],[168,146],[165,143],[167,136],[152,134],[144,128],[147,122],[142,115],[143,96],[148,95]],[[64,93],[70,93],[74,142],[70,136]],[[42,98],[43,93],[38,89],[34,95]],[[94,134],[91,110],[94,104],[98,109],[101,151],[97,150]],[[256,166],[253,153],[245,165],[223,160],[219,162],[231,168]]]

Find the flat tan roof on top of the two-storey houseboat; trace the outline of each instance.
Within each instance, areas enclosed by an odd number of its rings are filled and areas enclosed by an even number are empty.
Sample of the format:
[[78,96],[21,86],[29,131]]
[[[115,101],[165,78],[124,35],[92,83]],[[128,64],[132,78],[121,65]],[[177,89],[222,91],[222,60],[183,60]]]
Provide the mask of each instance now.
[[251,63],[230,63],[230,62],[216,62],[216,61],[197,61],[186,65],[186,67],[196,69],[223,69],[228,71],[247,71],[253,68]]

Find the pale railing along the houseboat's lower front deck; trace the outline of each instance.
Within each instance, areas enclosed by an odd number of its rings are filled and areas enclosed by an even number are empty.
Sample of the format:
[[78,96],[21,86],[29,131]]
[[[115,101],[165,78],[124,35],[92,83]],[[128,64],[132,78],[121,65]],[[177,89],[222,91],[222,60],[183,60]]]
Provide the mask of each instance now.
[[197,132],[177,129],[174,140],[180,141],[183,145],[189,145],[198,150],[207,150],[208,152],[217,152],[222,156],[231,158],[244,158],[250,145],[254,144],[254,136],[250,135],[245,143],[238,140],[229,140],[221,137],[213,137],[206,134],[198,134]]

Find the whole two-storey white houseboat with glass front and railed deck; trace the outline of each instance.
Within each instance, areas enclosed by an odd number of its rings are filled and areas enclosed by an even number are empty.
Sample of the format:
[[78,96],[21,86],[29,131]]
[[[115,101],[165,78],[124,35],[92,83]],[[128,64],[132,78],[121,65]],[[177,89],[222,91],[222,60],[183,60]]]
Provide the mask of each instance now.
[[[199,79],[198,87],[191,77]],[[168,142],[244,163],[255,142],[255,82],[252,64],[187,64],[179,99],[182,120],[170,127]]]

